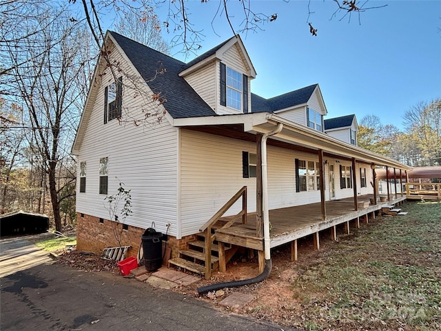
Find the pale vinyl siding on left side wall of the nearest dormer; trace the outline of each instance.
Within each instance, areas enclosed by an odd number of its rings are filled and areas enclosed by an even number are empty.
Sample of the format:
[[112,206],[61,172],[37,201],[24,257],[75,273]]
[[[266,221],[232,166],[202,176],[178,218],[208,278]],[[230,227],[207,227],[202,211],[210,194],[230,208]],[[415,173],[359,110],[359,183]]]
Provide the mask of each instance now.
[[201,96],[201,98],[213,110],[216,109],[216,62],[213,61],[207,66],[196,70],[184,77],[187,83],[192,86],[193,90]]

